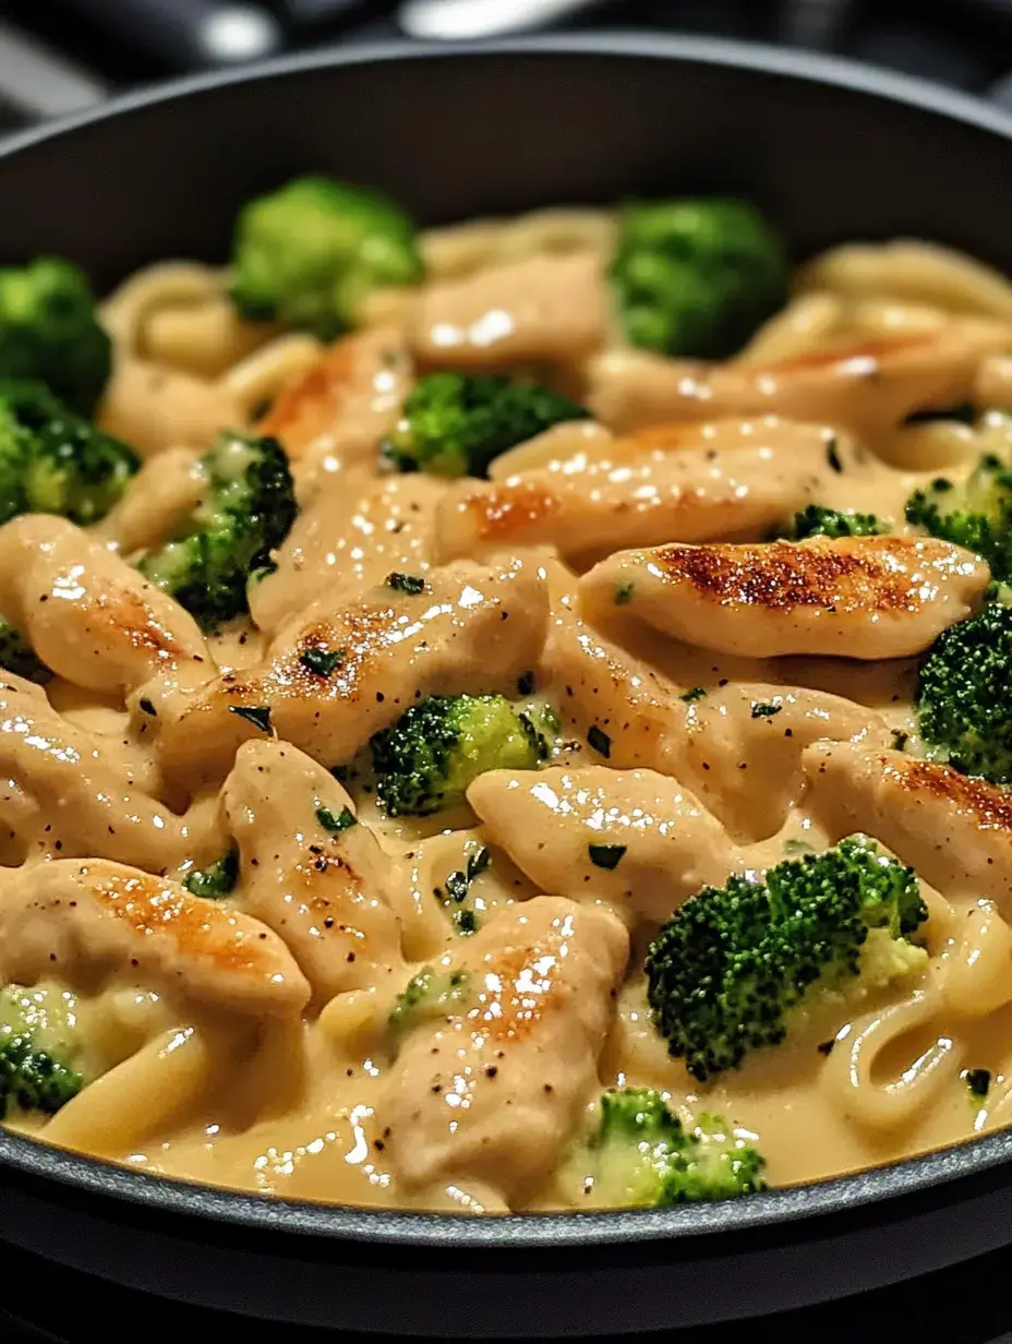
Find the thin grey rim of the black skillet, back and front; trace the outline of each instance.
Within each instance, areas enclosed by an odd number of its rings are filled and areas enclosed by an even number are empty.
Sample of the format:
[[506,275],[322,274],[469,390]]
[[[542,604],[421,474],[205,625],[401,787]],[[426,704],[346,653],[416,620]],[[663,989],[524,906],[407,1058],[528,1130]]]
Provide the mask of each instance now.
[[[398,60],[461,60],[503,56],[603,56],[640,60],[679,60],[746,70],[782,78],[831,85],[888,103],[934,113],[1012,141],[1012,114],[968,94],[911,75],[878,70],[855,60],[816,52],[792,51],[767,43],[722,38],[668,36],[636,32],[552,34],[489,42],[418,43],[391,40],[332,47],[280,56],[237,69],[211,71],[142,87],[95,108],[31,126],[0,140],[3,163],[36,145],[77,130],[129,117],[177,99],[239,85],[286,78],[305,71]],[[409,1210],[316,1204],[308,1200],[263,1198],[195,1181],[168,1180],[95,1157],[73,1153],[0,1128],[0,1169],[8,1168],[48,1187],[112,1199],[157,1214],[228,1224],[261,1232],[323,1236],[339,1242],[392,1246],[481,1249],[566,1249],[656,1243],[716,1234],[785,1228],[804,1223],[814,1234],[821,1219],[860,1214],[892,1202],[917,1203],[931,1188],[958,1200],[958,1184],[978,1185],[997,1168],[1012,1168],[1012,1129],[965,1144],[805,1185],[770,1189],[746,1199],[667,1210],[599,1212],[511,1214],[468,1218]],[[974,1181],[973,1179],[977,1177]],[[1007,1175],[1012,1184],[1012,1171]],[[993,1181],[992,1188],[1000,1184]],[[886,1222],[888,1212],[879,1210]],[[896,1207],[902,1218],[910,1208]],[[801,1232],[802,1230],[798,1228]],[[804,1235],[804,1232],[802,1232]]]

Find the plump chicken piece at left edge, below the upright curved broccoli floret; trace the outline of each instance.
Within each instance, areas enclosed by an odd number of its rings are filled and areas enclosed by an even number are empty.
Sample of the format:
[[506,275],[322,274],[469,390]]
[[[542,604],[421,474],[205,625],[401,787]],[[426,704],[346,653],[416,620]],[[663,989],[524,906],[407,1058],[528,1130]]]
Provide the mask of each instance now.
[[43,663],[89,691],[126,694],[180,664],[202,677],[212,668],[196,621],[62,517],[23,513],[0,528],[0,610]]

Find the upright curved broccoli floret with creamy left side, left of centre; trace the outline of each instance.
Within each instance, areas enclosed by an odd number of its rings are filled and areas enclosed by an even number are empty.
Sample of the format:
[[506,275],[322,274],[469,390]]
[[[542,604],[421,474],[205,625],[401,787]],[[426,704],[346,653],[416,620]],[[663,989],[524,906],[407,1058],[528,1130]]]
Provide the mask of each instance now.
[[273,438],[226,433],[202,458],[203,499],[173,540],[137,567],[208,632],[249,612],[247,585],[274,567],[296,519],[288,458]]

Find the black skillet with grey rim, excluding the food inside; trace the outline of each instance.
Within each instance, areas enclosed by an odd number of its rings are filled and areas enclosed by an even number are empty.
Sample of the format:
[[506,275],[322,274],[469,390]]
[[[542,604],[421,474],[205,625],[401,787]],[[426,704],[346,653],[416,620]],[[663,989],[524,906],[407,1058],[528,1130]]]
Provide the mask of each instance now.
[[[0,146],[0,261],[65,253],[105,286],[156,258],[218,259],[241,202],[328,169],[426,222],[742,192],[798,255],[917,234],[1012,271],[1012,118],[843,62],[614,34],[302,56],[31,130]],[[730,1204],[488,1220],[222,1193],[4,1134],[0,1239],[151,1293],[345,1331],[661,1329],[1012,1242],[1012,1133]]]

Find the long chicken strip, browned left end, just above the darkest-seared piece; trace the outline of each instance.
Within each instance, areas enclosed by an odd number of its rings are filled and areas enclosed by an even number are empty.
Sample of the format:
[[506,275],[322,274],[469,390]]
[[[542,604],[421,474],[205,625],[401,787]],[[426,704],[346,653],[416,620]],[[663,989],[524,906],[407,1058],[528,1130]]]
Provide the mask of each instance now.
[[505,481],[461,481],[437,509],[437,555],[550,544],[571,559],[625,546],[759,536],[817,499],[832,470],[831,435],[798,429],[726,452],[616,439]]

